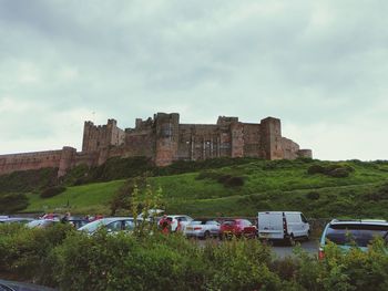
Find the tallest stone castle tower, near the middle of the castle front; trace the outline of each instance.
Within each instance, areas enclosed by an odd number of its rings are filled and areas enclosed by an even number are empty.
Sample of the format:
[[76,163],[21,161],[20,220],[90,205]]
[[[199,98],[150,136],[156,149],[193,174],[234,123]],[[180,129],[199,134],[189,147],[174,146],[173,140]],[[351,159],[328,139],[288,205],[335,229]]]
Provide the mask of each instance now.
[[155,165],[167,166],[177,157],[180,114],[157,113]]

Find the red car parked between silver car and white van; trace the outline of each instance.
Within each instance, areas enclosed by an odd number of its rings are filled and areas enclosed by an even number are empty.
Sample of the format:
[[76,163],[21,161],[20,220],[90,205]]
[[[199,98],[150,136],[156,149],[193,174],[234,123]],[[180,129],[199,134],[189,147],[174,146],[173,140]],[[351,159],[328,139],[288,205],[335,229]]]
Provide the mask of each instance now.
[[228,219],[219,227],[219,239],[232,237],[256,238],[257,228],[247,219]]

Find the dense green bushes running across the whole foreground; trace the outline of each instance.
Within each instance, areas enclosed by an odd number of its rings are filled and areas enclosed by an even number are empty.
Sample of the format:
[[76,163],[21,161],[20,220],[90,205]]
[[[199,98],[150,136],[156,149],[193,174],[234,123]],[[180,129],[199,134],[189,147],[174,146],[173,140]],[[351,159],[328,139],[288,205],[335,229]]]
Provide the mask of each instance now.
[[60,290],[386,290],[388,256],[376,240],[368,251],[344,253],[335,245],[325,258],[296,249],[274,258],[257,240],[198,247],[180,235],[88,236],[70,225],[28,229],[0,226],[0,273]]

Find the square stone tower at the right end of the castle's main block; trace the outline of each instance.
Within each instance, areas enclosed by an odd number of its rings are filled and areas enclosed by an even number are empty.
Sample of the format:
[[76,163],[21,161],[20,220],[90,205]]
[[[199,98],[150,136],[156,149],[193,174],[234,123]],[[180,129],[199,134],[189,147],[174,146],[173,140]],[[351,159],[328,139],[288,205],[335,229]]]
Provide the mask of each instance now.
[[261,148],[265,159],[283,158],[280,119],[267,117],[261,121]]

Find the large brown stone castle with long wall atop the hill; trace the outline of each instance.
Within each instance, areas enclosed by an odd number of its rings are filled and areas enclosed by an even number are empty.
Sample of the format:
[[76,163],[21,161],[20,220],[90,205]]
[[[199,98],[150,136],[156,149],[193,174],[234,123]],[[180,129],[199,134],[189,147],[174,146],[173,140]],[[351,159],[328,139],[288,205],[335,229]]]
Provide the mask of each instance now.
[[280,119],[274,117],[242,123],[238,117],[219,116],[216,124],[181,124],[177,113],[136,118],[135,127],[125,129],[119,128],[115,119],[108,119],[102,126],[85,122],[82,152],[65,146],[59,150],[0,155],[0,175],[53,167],[61,177],[74,166],[99,166],[111,157],[145,156],[156,166],[216,157],[312,157],[310,149],[299,149],[298,144],[282,136],[280,129]]

